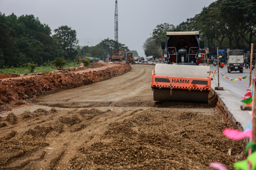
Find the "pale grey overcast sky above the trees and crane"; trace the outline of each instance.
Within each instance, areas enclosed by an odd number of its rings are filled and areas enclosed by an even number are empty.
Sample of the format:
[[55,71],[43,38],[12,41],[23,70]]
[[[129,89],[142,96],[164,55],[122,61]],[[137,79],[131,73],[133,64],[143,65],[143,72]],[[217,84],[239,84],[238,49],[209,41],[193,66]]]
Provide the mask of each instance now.
[[[118,0],[118,41],[144,56],[143,43],[157,25],[177,26],[215,0]],[[76,30],[81,46],[114,39],[115,0],[0,0],[0,12],[34,15],[53,30]],[[200,34],[200,32],[199,32]]]

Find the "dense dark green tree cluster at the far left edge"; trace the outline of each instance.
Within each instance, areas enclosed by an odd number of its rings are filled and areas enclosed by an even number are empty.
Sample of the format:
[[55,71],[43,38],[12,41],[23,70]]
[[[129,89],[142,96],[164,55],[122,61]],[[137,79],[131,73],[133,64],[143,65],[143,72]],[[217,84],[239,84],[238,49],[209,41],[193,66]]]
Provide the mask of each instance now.
[[33,15],[0,13],[0,68],[52,61],[61,49],[51,36],[51,29]]

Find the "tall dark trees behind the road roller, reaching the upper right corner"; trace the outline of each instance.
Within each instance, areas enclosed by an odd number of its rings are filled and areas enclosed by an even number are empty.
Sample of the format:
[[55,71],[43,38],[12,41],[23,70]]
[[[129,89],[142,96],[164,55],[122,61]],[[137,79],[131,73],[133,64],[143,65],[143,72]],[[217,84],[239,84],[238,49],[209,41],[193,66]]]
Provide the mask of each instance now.
[[178,26],[157,25],[142,46],[146,56],[161,56],[166,31],[199,31],[210,51],[216,49],[215,42],[220,49],[250,48],[256,43],[256,0],[216,0]]

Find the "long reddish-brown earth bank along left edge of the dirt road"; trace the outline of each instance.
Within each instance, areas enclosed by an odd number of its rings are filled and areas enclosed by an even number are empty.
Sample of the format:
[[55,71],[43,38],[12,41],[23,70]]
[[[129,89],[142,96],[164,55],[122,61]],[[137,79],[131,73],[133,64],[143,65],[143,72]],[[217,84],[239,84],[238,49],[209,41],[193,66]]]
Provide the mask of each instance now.
[[86,73],[47,73],[43,76],[7,80],[0,82],[0,111],[10,110],[14,105],[24,104],[44,92],[92,84],[104,78],[122,75],[131,70],[129,65],[119,65],[105,70]]

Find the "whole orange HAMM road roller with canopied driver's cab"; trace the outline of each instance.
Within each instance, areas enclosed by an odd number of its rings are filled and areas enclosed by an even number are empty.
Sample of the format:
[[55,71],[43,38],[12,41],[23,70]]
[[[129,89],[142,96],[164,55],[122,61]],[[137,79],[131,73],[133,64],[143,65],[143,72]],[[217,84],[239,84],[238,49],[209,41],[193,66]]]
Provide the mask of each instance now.
[[200,64],[205,51],[199,32],[166,32],[166,36],[161,48],[167,64],[156,64],[152,71],[154,101],[208,103],[211,72]]

